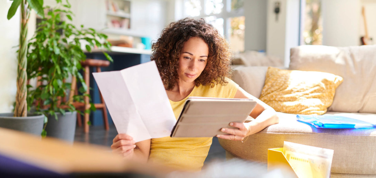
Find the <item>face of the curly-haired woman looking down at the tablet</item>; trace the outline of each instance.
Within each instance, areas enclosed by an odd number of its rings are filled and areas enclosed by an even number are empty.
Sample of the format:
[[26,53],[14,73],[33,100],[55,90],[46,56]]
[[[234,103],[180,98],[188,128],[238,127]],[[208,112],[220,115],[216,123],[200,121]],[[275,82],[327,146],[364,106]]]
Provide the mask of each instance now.
[[179,56],[179,82],[193,83],[208,62],[209,47],[199,37],[191,37],[183,45]]

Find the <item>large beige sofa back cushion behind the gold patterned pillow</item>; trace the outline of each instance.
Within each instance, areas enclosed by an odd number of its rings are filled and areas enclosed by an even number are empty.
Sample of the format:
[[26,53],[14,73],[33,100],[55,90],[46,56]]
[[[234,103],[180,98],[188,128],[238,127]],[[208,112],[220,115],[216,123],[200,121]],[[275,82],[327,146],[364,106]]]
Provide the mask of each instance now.
[[321,71],[343,77],[329,111],[376,113],[376,45],[291,48],[293,70]]

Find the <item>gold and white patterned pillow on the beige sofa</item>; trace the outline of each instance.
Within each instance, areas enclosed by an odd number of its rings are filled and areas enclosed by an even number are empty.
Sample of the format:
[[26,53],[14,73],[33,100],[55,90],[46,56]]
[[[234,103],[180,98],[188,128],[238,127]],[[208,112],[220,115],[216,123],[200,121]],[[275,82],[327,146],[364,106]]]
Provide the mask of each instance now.
[[326,72],[268,67],[260,100],[277,112],[323,115],[342,81]]

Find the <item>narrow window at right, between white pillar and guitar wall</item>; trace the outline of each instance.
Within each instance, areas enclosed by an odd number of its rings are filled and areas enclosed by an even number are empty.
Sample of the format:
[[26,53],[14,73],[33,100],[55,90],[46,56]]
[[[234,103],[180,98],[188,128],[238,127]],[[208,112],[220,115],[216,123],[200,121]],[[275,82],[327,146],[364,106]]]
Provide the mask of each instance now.
[[301,0],[302,35],[300,35],[300,44],[302,45],[321,45],[323,21],[321,18],[320,0]]

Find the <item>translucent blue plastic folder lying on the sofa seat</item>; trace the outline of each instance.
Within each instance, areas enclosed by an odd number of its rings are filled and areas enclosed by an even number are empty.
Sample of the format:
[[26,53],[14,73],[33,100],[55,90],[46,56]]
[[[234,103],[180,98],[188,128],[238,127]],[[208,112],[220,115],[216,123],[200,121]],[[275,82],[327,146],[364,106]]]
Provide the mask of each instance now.
[[359,119],[335,115],[296,115],[297,121],[317,128],[366,128],[376,124]]

